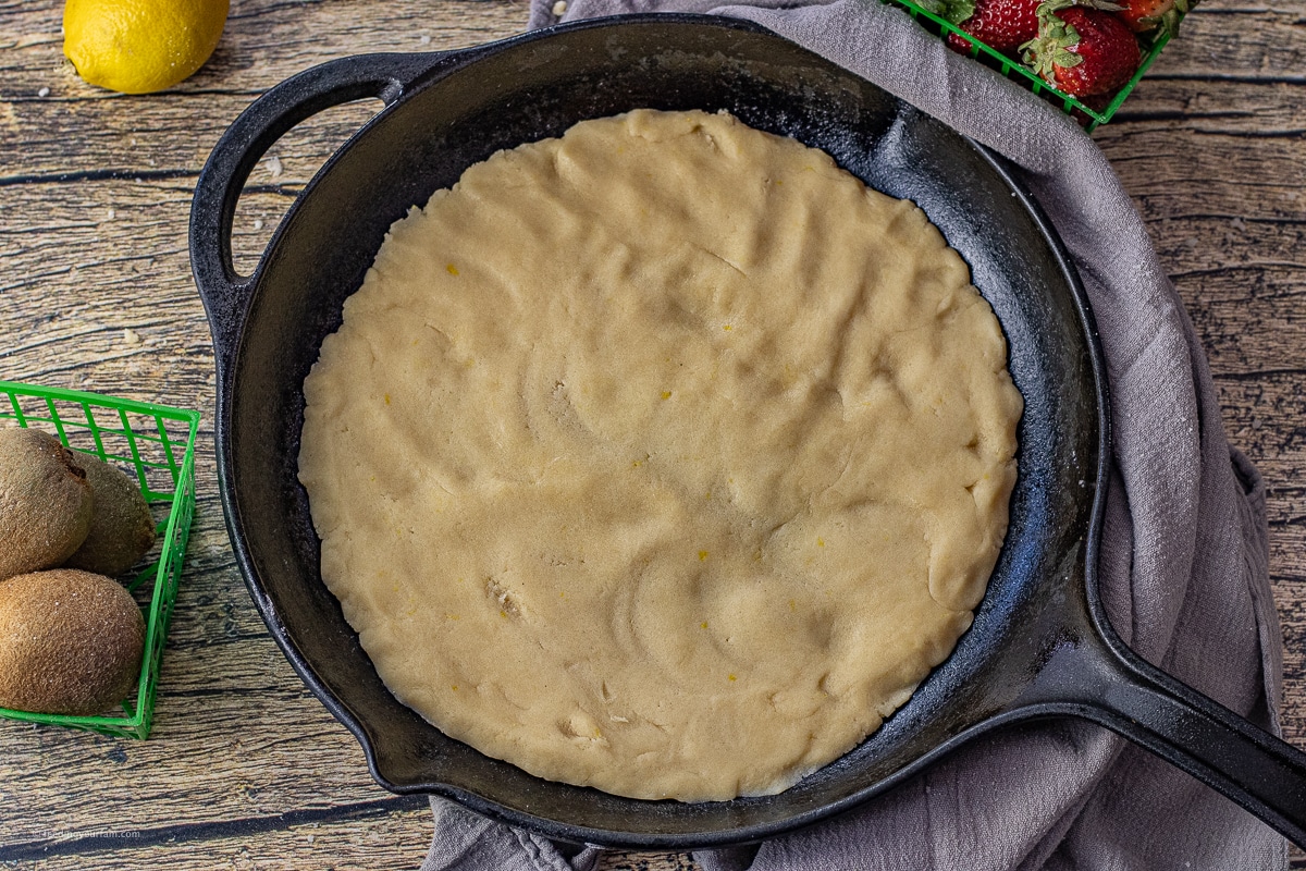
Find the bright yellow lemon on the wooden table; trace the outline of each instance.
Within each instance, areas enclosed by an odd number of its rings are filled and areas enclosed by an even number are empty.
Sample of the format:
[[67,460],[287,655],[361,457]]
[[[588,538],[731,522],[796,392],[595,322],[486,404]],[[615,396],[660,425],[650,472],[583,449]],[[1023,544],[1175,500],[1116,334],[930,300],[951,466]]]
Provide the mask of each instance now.
[[230,0],[68,0],[64,54],[91,85],[124,94],[171,87],[209,59]]

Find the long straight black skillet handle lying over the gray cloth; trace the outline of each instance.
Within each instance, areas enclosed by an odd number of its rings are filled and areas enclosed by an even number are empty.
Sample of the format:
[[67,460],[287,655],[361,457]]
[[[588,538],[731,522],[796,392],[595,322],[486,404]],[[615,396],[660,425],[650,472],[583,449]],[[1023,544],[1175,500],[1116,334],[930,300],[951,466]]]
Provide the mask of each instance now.
[[[1046,678],[1046,680],[1043,679]],[[1046,714],[1091,720],[1152,751],[1306,846],[1306,753],[1088,633],[1053,654],[1027,696]]]

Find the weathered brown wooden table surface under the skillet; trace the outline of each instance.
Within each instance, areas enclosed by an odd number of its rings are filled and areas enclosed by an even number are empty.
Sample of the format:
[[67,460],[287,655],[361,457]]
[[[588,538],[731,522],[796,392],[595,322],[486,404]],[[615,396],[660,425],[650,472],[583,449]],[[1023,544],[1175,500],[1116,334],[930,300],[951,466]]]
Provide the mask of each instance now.
[[[0,722],[0,862],[417,867],[424,802],[371,781],[355,740],[273,644],[232,562],[187,219],[213,144],[273,84],[342,55],[505,37],[525,8],[232,0],[212,61],[150,97],[80,81],[61,56],[60,10],[0,0],[0,379],[201,410],[199,505],[153,736]],[[236,213],[239,266],[248,272],[295,193],[375,108],[328,111],[274,146]],[[1306,0],[1207,0],[1094,137],[1209,351],[1233,443],[1269,483],[1284,727],[1306,746]],[[695,866],[613,854],[603,867]]]

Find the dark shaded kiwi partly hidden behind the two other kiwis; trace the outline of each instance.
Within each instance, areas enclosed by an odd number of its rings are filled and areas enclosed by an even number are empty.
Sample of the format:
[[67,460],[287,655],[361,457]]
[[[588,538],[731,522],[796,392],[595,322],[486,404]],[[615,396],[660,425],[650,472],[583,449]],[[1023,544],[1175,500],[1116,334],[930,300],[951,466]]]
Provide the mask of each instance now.
[[64,567],[116,577],[154,546],[154,518],[141,488],[125,471],[86,454],[77,462],[86,470],[95,511],[86,541]]

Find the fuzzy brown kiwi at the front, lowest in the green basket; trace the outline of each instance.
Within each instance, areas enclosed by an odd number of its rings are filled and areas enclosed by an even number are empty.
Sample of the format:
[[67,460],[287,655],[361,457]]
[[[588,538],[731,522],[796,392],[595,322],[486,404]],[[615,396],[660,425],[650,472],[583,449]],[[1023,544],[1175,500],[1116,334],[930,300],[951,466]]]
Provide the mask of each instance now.
[[0,581],[0,706],[90,716],[141,671],[145,618],[118,581],[71,568]]

